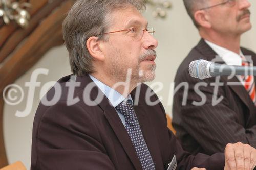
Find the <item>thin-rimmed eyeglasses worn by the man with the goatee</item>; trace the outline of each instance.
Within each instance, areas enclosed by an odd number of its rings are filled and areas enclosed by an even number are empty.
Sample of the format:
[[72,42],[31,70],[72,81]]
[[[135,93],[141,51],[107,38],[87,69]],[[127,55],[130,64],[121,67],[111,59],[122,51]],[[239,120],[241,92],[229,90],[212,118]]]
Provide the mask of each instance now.
[[[103,33],[103,34],[99,34],[99,35],[118,33],[118,32],[122,32],[122,31],[127,31],[127,33],[131,32],[133,34],[133,37],[136,40],[141,40],[141,38],[143,37],[143,34],[144,34],[145,31],[150,33],[152,36],[154,36],[154,33],[155,33],[155,30],[152,27],[149,27],[149,28],[146,28],[146,29],[140,29],[139,27],[133,27],[132,29],[112,31],[112,32]],[[99,35],[97,35],[97,36],[99,36]]]

